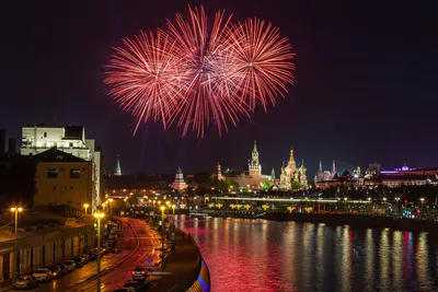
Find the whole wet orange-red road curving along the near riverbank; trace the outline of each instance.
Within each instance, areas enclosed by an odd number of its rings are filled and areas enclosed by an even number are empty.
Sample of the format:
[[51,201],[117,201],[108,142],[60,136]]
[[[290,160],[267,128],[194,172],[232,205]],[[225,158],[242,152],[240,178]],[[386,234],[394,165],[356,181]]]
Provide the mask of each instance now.
[[[122,253],[108,254],[102,258],[102,271],[112,268],[101,277],[101,290],[113,291],[115,288],[120,288],[127,280],[131,279],[131,271],[138,265],[146,265],[148,257],[153,258],[153,262],[158,261],[158,252],[155,248],[161,247],[159,235],[157,232],[150,230],[148,225],[141,220],[123,218],[123,226],[125,227],[124,237],[120,237],[117,243],[117,249],[123,248]],[[137,236],[138,235],[138,247]],[[136,249],[137,248],[137,249]],[[132,253],[134,252],[134,253]],[[132,255],[125,259],[129,254]],[[41,283],[38,288],[32,291],[41,292],[85,292],[96,291],[95,279],[87,281],[88,278],[96,275],[96,261],[91,261],[83,268],[77,269],[64,276],[60,279],[54,280],[49,283]]]

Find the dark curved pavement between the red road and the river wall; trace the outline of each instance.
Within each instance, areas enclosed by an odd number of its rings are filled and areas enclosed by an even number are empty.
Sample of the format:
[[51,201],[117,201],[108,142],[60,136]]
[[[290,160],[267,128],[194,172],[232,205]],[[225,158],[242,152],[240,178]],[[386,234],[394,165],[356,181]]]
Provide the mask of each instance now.
[[198,265],[199,249],[197,245],[177,231],[175,236],[175,250],[166,258],[166,266],[157,270],[151,277],[151,291],[171,291],[177,284],[191,277]]

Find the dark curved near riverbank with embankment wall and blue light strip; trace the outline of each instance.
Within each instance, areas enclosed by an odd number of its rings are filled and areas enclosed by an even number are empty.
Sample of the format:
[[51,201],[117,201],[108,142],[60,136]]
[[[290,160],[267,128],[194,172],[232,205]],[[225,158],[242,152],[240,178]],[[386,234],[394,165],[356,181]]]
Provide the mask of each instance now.
[[160,291],[209,291],[210,275],[196,242],[177,230],[174,243],[165,267],[154,272],[153,283]]

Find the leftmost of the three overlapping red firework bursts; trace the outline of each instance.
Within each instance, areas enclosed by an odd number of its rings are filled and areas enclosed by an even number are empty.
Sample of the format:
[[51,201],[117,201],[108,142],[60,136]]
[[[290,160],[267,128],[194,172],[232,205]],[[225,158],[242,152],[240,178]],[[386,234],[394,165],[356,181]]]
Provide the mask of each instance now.
[[162,120],[164,128],[184,100],[178,82],[178,56],[166,34],[141,32],[124,39],[125,48],[115,48],[104,82],[124,110],[141,121]]

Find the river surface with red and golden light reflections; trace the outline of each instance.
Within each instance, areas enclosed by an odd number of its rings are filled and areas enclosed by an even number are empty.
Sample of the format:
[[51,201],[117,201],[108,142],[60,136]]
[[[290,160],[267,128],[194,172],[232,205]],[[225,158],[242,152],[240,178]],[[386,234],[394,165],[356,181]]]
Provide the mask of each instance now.
[[427,233],[244,219],[191,219],[216,292],[438,291]]

